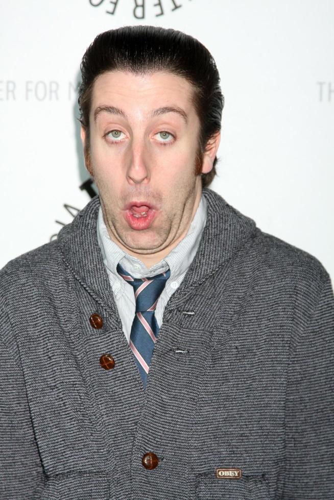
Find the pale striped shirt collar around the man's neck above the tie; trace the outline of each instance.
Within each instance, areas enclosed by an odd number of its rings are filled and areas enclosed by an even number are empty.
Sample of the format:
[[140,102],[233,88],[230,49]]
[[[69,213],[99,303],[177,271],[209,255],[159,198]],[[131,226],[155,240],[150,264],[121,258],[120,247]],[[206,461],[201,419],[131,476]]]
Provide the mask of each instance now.
[[116,270],[118,263],[120,263],[122,267],[134,278],[155,276],[156,274],[164,272],[170,268],[171,280],[177,280],[183,273],[186,272],[195,257],[206,224],[206,215],[207,202],[202,195],[195,216],[185,237],[164,259],[148,269],[143,262],[136,257],[129,255],[110,239],[100,206],[97,223],[97,236],[102,252],[103,262],[107,270],[118,279],[121,278]]

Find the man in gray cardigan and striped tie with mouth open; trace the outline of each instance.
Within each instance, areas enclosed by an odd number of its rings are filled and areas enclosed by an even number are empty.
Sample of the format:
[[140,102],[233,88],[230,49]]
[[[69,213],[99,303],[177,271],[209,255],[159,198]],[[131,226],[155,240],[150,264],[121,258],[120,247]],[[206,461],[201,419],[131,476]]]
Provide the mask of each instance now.
[[1,273],[1,498],[332,498],[330,278],[207,188],[212,57],[126,27],[81,69],[100,196]]

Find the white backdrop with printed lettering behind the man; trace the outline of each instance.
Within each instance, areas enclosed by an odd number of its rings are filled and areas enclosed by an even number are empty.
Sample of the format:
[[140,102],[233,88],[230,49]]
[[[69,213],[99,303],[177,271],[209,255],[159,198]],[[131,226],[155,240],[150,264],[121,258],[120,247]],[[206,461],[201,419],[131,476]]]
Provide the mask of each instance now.
[[220,70],[213,189],[334,276],[333,0],[1,0],[0,13],[0,267],[90,199],[76,120],[86,47],[156,24],[198,38]]

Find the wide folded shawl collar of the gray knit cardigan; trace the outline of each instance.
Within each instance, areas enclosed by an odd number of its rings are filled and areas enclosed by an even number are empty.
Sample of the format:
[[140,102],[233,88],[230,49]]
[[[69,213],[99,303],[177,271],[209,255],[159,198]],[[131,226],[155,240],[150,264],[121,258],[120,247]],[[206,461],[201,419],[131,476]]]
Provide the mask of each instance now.
[[[228,205],[216,192],[203,189],[207,222],[197,254],[174,294],[177,306],[210,274],[222,267],[256,233],[254,220]],[[97,239],[100,199],[94,197],[58,235],[64,261],[79,282],[102,306],[115,310],[113,295]]]

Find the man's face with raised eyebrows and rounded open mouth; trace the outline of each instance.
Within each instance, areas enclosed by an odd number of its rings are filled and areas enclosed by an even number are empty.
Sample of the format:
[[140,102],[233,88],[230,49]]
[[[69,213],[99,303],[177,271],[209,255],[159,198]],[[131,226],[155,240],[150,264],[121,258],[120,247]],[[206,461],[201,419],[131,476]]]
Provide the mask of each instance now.
[[[169,72],[109,71],[93,85],[87,166],[109,235],[130,254],[173,248],[199,204],[200,123],[192,96],[190,84]],[[202,172],[216,151],[204,154]]]

